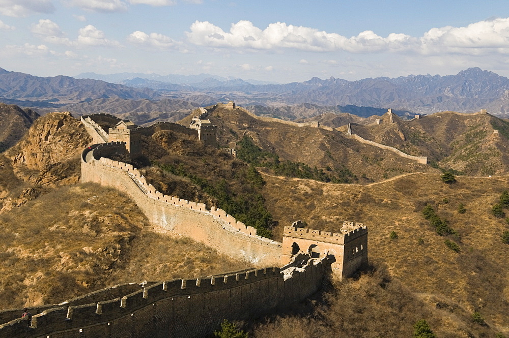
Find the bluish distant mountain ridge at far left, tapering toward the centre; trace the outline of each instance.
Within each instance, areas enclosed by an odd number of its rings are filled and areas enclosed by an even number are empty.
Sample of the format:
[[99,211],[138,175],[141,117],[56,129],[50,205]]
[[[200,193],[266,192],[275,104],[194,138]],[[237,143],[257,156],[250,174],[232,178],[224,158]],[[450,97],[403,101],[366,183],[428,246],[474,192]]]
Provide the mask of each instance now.
[[0,101],[5,99],[8,102],[18,100],[62,104],[111,97],[139,100],[155,99],[159,96],[156,91],[147,88],[136,89],[69,76],[39,77],[0,68]]

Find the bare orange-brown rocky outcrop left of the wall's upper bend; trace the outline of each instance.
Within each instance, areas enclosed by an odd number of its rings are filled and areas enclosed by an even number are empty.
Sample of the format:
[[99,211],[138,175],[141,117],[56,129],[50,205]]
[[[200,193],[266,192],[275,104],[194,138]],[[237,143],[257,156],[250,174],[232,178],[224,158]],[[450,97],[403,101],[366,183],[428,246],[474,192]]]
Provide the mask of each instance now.
[[24,181],[41,186],[67,185],[79,180],[79,155],[91,141],[81,122],[70,113],[49,113],[39,118],[5,156]]

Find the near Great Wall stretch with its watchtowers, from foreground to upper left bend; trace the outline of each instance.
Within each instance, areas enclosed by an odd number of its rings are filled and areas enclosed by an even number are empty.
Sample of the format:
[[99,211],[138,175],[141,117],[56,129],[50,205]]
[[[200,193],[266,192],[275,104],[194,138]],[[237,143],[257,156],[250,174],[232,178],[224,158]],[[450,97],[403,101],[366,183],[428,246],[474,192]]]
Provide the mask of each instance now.
[[[0,337],[206,336],[223,319],[256,318],[312,295],[320,289],[327,271],[342,279],[367,262],[367,228],[363,224],[344,222],[341,232],[331,233],[299,228],[296,222],[284,228],[280,243],[257,236],[256,229],[224,210],[209,210],[203,203],[157,192],[132,165],[108,159],[115,153],[138,151],[133,147],[136,143],[125,135],[146,134],[157,127],[142,129],[119,120],[117,127],[106,133],[94,120],[100,115],[81,117],[95,143],[82,151],[83,182],[117,188],[150,222],[258,268],[196,280],[114,286],[59,304],[32,307],[31,319],[19,318],[19,309],[2,311],[0,322],[5,324],[0,325]],[[184,128],[173,125],[158,126]],[[111,133],[115,129],[120,132]],[[118,139],[119,134],[123,139]],[[134,141],[139,141],[137,136]]]

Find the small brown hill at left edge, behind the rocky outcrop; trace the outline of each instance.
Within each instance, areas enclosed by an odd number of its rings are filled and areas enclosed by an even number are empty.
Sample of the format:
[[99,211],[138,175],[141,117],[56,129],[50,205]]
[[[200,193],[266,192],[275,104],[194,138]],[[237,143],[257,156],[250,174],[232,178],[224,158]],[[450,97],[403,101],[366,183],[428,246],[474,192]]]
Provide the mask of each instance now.
[[16,144],[37,117],[39,114],[31,109],[0,103],[0,152]]

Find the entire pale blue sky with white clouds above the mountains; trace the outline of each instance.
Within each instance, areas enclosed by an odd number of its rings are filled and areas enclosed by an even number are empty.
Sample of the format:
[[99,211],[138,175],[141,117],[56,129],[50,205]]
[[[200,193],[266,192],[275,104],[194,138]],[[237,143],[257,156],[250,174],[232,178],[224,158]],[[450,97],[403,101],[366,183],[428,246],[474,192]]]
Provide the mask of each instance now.
[[0,67],[280,83],[509,76],[505,1],[0,0]]

